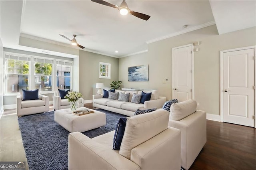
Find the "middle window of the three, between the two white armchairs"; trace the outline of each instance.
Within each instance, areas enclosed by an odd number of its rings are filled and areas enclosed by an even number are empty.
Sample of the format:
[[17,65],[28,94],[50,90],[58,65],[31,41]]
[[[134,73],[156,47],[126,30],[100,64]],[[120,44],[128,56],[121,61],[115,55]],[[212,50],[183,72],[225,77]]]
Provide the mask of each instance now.
[[52,91],[52,64],[35,63],[35,87],[41,91]]

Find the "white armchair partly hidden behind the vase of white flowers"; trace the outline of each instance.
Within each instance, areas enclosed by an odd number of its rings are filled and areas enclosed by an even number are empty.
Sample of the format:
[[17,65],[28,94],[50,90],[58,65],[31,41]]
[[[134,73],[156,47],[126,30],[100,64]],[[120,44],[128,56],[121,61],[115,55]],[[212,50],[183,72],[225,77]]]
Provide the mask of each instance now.
[[[84,107],[84,99],[82,97],[78,99],[78,107]],[[68,109],[68,108],[70,108],[70,102],[68,102],[68,99],[61,99],[59,91],[58,90],[54,91],[53,109],[59,110],[59,109]]]

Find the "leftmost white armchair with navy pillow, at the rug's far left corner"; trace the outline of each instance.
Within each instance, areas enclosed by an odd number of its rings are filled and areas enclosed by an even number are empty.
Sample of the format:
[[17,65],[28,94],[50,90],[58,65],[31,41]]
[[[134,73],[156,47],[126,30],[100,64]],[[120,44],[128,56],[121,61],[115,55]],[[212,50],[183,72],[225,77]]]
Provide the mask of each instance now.
[[22,101],[23,96],[17,96],[17,115],[31,115],[36,113],[48,112],[49,111],[49,97],[45,95],[39,95],[37,100],[25,100]]

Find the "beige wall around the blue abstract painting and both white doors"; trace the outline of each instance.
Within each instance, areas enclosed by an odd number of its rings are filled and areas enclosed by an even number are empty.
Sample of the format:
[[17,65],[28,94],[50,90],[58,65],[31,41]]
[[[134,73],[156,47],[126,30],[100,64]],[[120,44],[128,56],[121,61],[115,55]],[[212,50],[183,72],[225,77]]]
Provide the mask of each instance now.
[[[256,27],[218,35],[216,25],[148,44],[148,52],[119,59],[123,87],[158,89],[172,99],[172,48],[200,42],[194,52],[194,97],[198,109],[220,115],[220,51],[256,45]],[[128,67],[149,65],[149,81],[128,82]],[[166,84],[162,81],[168,79]]]

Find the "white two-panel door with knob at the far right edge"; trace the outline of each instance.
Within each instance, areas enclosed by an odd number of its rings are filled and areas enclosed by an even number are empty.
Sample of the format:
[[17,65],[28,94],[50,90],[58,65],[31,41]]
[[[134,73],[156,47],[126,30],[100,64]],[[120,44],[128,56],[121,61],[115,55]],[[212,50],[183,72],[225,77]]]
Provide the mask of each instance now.
[[223,122],[254,127],[254,49],[223,53]]

